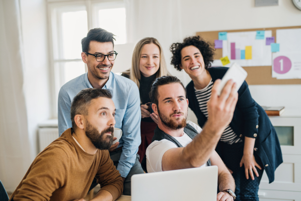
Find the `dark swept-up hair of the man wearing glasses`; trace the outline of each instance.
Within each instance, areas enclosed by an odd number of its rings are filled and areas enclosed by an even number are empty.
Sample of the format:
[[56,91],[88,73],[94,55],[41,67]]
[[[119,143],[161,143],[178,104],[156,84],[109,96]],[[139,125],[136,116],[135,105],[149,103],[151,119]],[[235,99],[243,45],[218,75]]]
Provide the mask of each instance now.
[[100,43],[112,42],[114,47],[114,36],[114,34],[107,32],[106,30],[101,28],[91,29],[88,32],[87,37],[82,39],[82,51],[89,51],[90,41],[97,41]]

